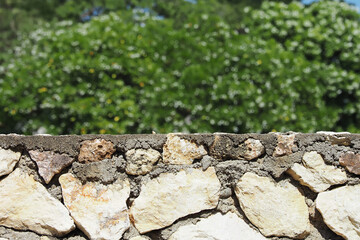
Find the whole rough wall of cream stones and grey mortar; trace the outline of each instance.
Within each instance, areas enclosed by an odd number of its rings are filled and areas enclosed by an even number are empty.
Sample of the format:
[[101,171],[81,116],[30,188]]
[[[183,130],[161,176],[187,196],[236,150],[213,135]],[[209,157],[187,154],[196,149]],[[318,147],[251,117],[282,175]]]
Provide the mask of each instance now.
[[0,239],[360,239],[360,135],[0,135]]

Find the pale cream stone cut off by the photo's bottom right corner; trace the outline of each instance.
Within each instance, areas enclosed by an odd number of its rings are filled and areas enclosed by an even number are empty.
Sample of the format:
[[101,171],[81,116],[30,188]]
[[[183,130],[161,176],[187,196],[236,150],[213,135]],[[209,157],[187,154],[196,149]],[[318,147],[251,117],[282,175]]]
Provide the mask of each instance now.
[[319,193],[316,208],[336,234],[349,240],[360,239],[360,185],[339,187]]

